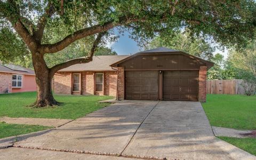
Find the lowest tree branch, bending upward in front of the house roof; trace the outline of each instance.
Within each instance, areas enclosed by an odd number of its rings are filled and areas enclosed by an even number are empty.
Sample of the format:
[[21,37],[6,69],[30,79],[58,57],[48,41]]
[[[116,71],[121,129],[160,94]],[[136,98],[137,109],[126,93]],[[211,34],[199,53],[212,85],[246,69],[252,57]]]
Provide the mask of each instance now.
[[73,59],[73,60],[69,60],[63,63],[60,63],[58,65],[53,66],[52,68],[50,68],[50,75],[53,76],[58,70],[63,69],[63,68],[67,68],[69,66],[75,65],[77,63],[88,63],[92,61],[92,57],[94,52],[96,51],[101,38],[103,37],[104,33],[99,33],[97,38],[95,39],[95,41],[93,42],[91,51],[89,52],[89,54],[85,57],[85,58],[77,58],[77,59]]

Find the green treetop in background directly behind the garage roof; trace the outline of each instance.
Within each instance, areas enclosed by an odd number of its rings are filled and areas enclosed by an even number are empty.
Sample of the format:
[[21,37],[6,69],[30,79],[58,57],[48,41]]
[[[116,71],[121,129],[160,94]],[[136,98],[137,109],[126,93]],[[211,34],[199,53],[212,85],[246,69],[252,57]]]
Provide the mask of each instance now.
[[214,47],[203,38],[191,38],[188,33],[177,33],[173,36],[157,36],[147,46],[149,49],[156,47],[169,47],[170,49],[187,52],[197,57],[210,60],[213,57]]

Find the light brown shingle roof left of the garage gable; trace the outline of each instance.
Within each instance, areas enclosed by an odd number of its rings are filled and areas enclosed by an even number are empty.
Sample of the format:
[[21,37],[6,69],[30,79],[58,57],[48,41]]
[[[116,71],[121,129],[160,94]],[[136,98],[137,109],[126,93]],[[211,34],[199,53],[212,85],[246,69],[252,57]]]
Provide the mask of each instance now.
[[59,71],[113,71],[109,65],[120,61],[130,55],[97,55],[93,56],[93,61],[89,63],[76,64]]

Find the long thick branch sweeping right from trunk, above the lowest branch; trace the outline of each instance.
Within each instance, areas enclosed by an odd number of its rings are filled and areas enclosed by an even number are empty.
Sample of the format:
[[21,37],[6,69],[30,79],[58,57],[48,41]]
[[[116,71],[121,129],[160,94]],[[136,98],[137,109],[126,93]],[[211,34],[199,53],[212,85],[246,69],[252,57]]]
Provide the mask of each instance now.
[[106,22],[103,25],[95,25],[92,27],[84,28],[84,29],[76,31],[73,34],[68,35],[67,37],[65,37],[64,39],[62,39],[61,41],[59,41],[55,44],[42,44],[41,48],[39,50],[42,53],[59,52],[59,51],[65,49],[65,47],[67,47],[69,44],[77,41],[78,39],[107,31],[116,26],[121,26],[121,25],[129,23],[131,21],[138,21],[138,19],[130,19],[127,17],[121,17],[121,18],[119,18],[118,22],[115,22],[114,20],[112,20],[112,21]]

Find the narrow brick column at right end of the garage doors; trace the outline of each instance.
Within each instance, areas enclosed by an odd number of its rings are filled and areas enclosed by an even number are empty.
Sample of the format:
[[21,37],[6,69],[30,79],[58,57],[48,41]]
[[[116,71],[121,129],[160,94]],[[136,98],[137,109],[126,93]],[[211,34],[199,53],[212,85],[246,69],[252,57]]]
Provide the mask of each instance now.
[[199,70],[199,89],[198,89],[198,100],[200,102],[206,102],[206,73],[207,67],[201,66]]

